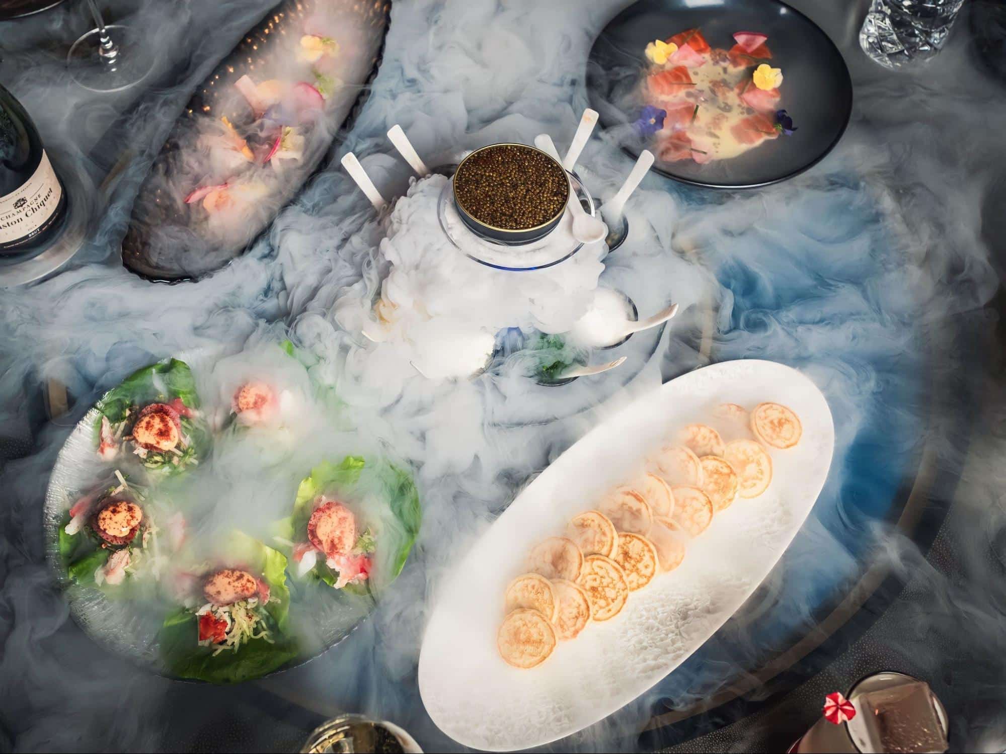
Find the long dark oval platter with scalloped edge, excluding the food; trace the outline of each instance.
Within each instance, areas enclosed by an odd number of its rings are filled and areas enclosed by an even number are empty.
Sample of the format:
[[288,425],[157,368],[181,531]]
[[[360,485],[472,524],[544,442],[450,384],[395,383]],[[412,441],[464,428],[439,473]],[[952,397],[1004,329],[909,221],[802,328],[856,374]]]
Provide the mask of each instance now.
[[[294,61],[292,50],[301,36],[316,33],[319,17],[329,24],[326,28],[338,19],[333,38],[339,62],[338,76],[333,76],[337,83],[312,126],[316,136],[309,136],[299,162],[283,163],[282,181],[254,212],[226,228],[214,228],[198,201],[185,203],[200,183],[200,170],[203,175],[210,170],[200,138],[221,118],[245,133],[262,120],[236,93],[234,82],[244,75],[260,84],[279,77],[277,71]],[[389,0],[285,0],[273,8],[203,80],[171,129],[133,204],[123,238],[123,264],[151,280],[178,282],[203,277],[242,254],[318,172],[332,143],[350,127],[377,72],[389,17]],[[248,145],[256,152],[256,163],[261,162],[268,145],[264,148],[252,139]],[[272,175],[265,164],[255,168]]]

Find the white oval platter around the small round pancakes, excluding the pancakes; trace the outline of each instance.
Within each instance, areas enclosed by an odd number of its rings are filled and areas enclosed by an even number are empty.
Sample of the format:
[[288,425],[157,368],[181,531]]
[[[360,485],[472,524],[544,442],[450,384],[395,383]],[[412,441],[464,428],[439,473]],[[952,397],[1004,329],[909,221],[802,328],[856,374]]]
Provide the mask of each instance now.
[[[616,617],[589,624],[537,668],[504,663],[496,648],[503,594],[529,548],[631,481],[680,427],[719,403],[763,401],[791,407],[803,423],[795,447],[769,449],[768,491],[717,514],[681,566],[633,592]],[[575,733],[631,702],[701,646],[769,575],[814,507],[834,444],[817,386],[761,360],[690,372],[602,422],[514,500],[439,587],[420,655],[431,718],[461,744],[509,751]]]

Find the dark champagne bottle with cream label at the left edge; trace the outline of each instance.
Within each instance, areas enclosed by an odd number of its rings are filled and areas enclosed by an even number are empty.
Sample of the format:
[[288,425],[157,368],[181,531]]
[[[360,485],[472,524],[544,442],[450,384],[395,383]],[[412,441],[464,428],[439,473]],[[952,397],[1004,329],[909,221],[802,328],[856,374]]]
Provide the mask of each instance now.
[[0,254],[43,248],[65,214],[66,193],[35,124],[0,85]]

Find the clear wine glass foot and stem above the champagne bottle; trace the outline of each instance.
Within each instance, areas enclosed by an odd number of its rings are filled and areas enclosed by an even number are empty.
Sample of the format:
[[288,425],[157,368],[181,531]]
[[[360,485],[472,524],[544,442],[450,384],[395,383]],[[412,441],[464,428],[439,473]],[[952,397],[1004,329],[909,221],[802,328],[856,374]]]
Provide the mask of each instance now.
[[92,91],[122,91],[146,78],[153,60],[144,54],[139,32],[122,24],[107,26],[96,0],[86,0],[96,28],[69,48],[66,68]]

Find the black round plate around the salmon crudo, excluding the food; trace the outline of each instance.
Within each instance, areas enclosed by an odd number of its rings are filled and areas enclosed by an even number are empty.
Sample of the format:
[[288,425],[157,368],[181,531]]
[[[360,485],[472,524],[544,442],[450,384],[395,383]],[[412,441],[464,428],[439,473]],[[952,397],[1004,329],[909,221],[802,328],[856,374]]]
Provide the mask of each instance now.
[[852,79],[842,54],[817,24],[779,0],[640,0],[601,32],[586,64],[591,107],[633,156],[648,146],[631,124],[643,105],[636,93],[654,39],[699,28],[712,47],[729,48],[735,31],[769,36],[772,63],[783,69],[780,107],[793,118],[793,136],[767,140],[744,154],[705,165],[657,161],[668,178],[709,188],[756,188],[815,165],[838,143],[852,112]]

